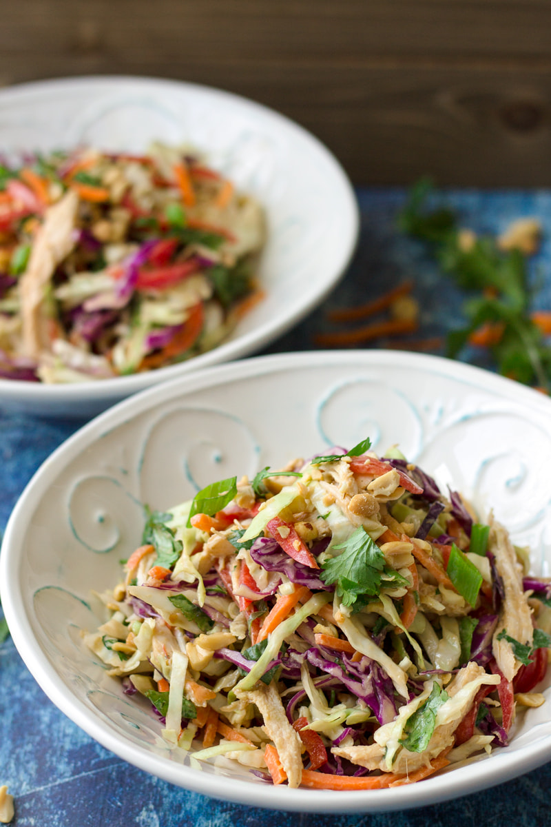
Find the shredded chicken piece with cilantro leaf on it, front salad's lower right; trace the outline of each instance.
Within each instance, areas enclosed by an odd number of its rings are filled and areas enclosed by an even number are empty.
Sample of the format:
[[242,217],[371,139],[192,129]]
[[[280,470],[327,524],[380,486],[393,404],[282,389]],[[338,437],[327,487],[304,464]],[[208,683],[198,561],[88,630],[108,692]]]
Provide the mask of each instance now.
[[[406,774],[415,772],[420,767],[426,767],[433,758],[436,758],[442,751],[451,747],[454,743],[454,732],[463,717],[470,709],[474,696],[482,684],[498,684],[499,675],[488,675],[483,667],[477,663],[470,662],[460,669],[449,686],[446,687],[449,699],[439,707],[436,713],[436,725],[427,748],[422,753],[414,753],[409,749],[397,746],[397,739],[402,737],[403,727],[408,715],[401,715],[397,732],[397,721],[384,724],[375,734],[377,743],[368,747],[334,747],[331,752],[341,758],[348,758],[360,767],[367,767],[369,770],[381,770],[382,772],[397,772]],[[412,713],[416,710],[418,699],[411,702]],[[408,706],[410,706],[408,705]],[[387,765],[387,752],[393,748],[396,755],[392,767]]]

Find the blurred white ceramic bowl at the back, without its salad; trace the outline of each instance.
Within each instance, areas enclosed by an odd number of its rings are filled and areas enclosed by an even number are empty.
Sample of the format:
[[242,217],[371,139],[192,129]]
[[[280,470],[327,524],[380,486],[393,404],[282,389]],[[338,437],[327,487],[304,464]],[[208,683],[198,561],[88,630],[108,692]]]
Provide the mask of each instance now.
[[78,145],[145,151],[186,143],[264,205],[266,298],[214,350],[178,366],[78,385],[0,379],[0,404],[85,417],[162,380],[258,351],[329,294],[354,250],[359,212],[333,155],[302,127],[217,89],[169,80],[77,78],[0,91],[0,146],[13,156]]

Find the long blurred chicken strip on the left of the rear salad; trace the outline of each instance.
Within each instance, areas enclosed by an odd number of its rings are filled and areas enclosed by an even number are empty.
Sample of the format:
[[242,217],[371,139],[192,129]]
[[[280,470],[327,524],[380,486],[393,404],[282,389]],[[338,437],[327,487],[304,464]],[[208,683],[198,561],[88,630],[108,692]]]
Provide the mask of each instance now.
[[25,356],[37,358],[40,351],[49,348],[46,320],[41,310],[55,268],[74,248],[77,210],[78,195],[71,190],[48,208],[44,223],[36,233],[29,263],[19,283],[21,350]]

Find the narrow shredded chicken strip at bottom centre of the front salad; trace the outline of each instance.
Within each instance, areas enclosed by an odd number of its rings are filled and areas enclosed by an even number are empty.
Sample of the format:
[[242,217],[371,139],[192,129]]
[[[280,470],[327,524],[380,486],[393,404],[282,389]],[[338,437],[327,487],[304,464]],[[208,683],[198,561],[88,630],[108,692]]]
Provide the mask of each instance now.
[[297,787],[302,779],[302,741],[287,720],[278,690],[270,684],[246,692],[235,692],[240,700],[254,704],[264,719],[264,729],[278,750],[279,760],[287,772],[289,786]]

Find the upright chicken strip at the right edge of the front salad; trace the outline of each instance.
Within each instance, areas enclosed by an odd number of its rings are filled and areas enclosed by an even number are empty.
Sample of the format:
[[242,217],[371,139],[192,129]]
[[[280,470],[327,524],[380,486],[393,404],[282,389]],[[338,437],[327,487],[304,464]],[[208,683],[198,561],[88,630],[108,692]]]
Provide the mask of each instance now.
[[515,658],[511,643],[505,638],[498,638],[505,629],[506,633],[519,643],[531,644],[534,635],[532,611],[522,587],[522,566],[516,557],[511,539],[500,523],[492,519],[490,526],[488,547],[496,558],[496,570],[501,576],[505,591],[492,638],[492,652],[507,681],[512,681],[520,668],[520,662]]

